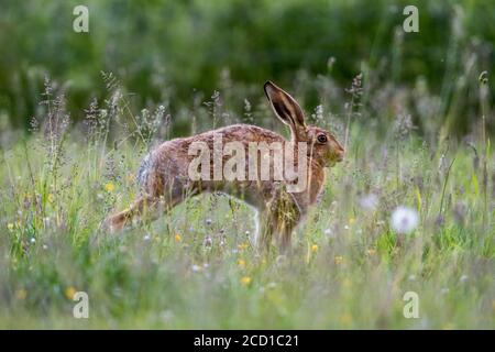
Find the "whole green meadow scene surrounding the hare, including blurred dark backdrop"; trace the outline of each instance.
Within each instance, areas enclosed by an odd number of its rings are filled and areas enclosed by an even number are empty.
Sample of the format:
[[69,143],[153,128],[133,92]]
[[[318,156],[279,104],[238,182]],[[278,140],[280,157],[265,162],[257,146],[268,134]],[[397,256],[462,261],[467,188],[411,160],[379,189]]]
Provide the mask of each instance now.
[[[75,33],[79,1],[2,2],[0,328],[495,329],[492,1],[415,1],[419,33],[404,1],[253,3],[88,0]],[[161,142],[288,136],[268,79],[346,151],[290,255],[221,194],[102,230]]]

